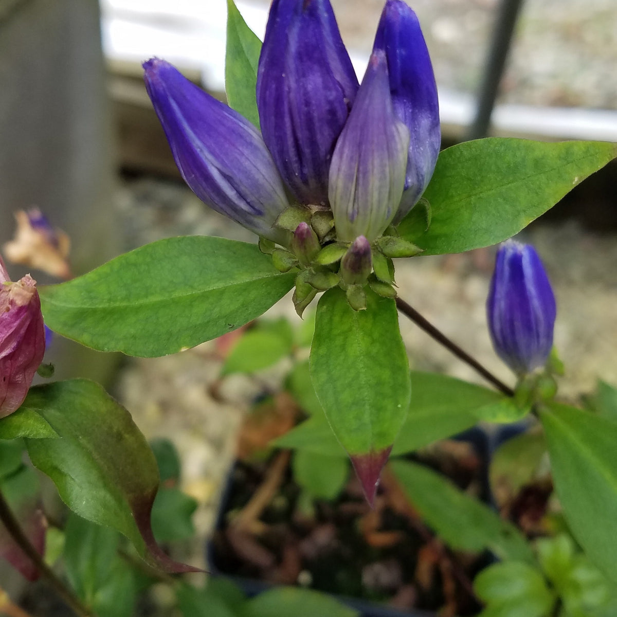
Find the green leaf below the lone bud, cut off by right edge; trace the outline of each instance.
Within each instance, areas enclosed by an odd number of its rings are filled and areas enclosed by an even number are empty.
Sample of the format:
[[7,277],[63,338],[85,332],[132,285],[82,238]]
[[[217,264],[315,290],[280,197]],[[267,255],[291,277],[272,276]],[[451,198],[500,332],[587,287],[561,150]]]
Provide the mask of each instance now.
[[574,537],[617,581],[617,423],[553,404],[540,420],[549,442],[557,496]]

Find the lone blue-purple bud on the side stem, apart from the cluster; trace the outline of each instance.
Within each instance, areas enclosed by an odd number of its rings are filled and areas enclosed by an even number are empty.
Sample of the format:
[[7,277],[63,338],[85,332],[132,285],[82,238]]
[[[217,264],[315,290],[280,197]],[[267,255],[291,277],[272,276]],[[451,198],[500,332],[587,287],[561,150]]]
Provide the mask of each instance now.
[[501,244],[486,309],[493,346],[503,362],[518,375],[545,365],[557,309],[534,247],[514,240]]

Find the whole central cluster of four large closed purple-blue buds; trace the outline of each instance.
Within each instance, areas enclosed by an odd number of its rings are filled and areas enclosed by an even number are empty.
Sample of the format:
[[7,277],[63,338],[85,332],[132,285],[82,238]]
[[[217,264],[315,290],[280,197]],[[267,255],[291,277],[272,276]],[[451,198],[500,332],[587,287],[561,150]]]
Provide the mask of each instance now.
[[312,212],[331,209],[337,239],[373,242],[433,173],[435,80],[418,20],[402,0],[386,3],[360,88],[329,0],[274,0],[257,69],[263,138],[163,60],[144,68],[189,186],[285,246],[289,236],[272,226],[286,195]]

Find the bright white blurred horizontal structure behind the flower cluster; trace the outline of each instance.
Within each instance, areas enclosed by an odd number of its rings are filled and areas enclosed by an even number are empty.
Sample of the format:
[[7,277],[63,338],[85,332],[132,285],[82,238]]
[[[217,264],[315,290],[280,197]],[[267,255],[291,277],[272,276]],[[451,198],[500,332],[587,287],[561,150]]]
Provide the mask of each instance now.
[[[249,27],[263,38],[267,8],[239,0],[238,9]],[[199,71],[204,87],[225,87],[224,0],[101,0],[103,46],[109,59],[143,62],[159,56],[178,68]],[[362,76],[368,58],[350,51]],[[439,89],[444,133],[458,137],[471,123],[474,99]],[[492,116],[498,135],[540,139],[602,139],[617,141],[617,112],[571,107],[498,105]]]

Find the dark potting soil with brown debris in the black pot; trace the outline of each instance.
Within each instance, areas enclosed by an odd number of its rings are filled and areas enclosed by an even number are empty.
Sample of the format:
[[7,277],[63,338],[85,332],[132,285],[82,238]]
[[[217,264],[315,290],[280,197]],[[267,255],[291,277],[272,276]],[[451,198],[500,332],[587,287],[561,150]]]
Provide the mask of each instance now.
[[[479,493],[480,459],[472,454],[466,463],[450,466],[447,457],[428,462],[462,488]],[[213,571],[269,584],[300,584],[399,610],[446,607],[447,615],[478,614],[481,605],[471,581],[490,555],[444,547],[410,504],[401,507],[402,492],[392,482],[383,482],[371,511],[351,477],[333,502],[314,501],[311,515],[302,511],[302,491],[288,468],[259,521],[239,531],[234,516],[262,485],[267,469],[268,462],[236,463],[210,546]]]

